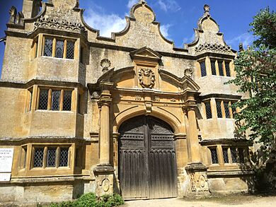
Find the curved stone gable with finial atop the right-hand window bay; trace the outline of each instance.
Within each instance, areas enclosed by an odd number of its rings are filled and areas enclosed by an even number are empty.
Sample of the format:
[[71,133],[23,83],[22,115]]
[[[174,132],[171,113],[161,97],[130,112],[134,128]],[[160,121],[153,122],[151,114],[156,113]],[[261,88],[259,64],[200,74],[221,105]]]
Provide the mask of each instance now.
[[211,17],[210,7],[205,5],[204,10],[204,15],[197,22],[195,40],[185,47],[195,55],[205,52],[235,55],[236,51],[226,44],[223,33],[219,31],[218,23]]

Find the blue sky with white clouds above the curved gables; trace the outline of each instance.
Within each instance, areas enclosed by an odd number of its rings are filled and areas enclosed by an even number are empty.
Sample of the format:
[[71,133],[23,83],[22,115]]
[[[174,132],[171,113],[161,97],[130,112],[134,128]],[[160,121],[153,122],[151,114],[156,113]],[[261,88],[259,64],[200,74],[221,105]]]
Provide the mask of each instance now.
[[[4,37],[8,10],[16,6],[22,9],[23,0],[2,0],[0,8],[0,37]],[[110,32],[119,32],[125,28],[125,16],[130,7],[138,0],[80,0],[80,7],[85,8],[85,20],[88,25],[100,30],[100,35],[110,36]],[[276,10],[275,0],[147,0],[156,13],[156,20],[161,23],[163,35],[173,40],[177,47],[193,40],[193,28],[197,27],[197,20],[203,14],[204,4],[211,6],[211,16],[224,32],[224,39],[233,49],[238,49],[238,43],[251,45],[252,35],[248,32],[252,22],[260,9],[270,6]],[[0,72],[4,57],[4,43],[0,43]]]

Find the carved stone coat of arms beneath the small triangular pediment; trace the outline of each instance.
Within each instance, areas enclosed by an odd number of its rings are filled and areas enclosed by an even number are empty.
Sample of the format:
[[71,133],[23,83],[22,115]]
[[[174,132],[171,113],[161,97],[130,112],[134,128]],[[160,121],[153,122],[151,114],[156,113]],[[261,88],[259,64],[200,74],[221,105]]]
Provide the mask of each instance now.
[[151,69],[139,69],[139,83],[143,88],[153,88],[155,84],[154,71]]

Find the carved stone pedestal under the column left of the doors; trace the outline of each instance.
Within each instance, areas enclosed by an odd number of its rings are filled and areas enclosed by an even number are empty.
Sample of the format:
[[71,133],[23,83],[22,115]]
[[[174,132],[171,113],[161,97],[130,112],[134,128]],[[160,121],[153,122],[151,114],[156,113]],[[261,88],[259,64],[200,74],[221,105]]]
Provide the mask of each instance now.
[[113,194],[114,167],[111,165],[97,165],[93,170],[96,177],[96,195]]

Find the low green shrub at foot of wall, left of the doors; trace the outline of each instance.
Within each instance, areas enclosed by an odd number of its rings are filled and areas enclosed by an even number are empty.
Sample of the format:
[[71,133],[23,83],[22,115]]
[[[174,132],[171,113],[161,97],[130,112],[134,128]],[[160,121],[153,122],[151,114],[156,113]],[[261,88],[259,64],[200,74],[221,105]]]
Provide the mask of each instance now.
[[120,206],[125,201],[120,195],[104,195],[97,197],[93,193],[82,195],[76,201],[64,201],[62,203],[51,203],[47,207],[112,207]]

